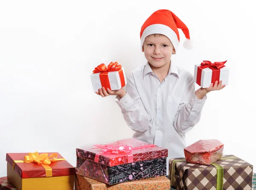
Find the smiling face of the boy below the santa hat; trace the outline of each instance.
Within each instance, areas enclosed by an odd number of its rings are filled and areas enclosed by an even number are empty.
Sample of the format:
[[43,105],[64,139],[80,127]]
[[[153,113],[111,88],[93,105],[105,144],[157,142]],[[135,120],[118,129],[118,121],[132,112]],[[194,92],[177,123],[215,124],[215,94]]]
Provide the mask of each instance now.
[[152,66],[160,68],[169,64],[175,49],[168,37],[149,35],[143,43],[145,58]]

